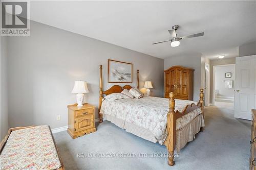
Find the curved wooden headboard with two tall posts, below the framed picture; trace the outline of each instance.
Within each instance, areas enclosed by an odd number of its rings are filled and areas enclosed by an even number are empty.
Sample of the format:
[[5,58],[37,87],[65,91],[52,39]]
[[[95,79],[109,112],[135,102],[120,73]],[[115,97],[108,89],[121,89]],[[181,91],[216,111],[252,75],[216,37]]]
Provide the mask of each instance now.
[[[119,85],[114,85],[110,87],[108,90],[103,91],[103,79],[102,79],[102,65],[99,65],[99,111],[101,108],[101,103],[103,99],[103,95],[109,95],[112,93],[120,93],[123,89],[130,90],[132,86],[126,84],[123,87]],[[137,69],[137,88],[139,88],[139,70]],[[99,113],[99,122],[103,121],[102,114]]]

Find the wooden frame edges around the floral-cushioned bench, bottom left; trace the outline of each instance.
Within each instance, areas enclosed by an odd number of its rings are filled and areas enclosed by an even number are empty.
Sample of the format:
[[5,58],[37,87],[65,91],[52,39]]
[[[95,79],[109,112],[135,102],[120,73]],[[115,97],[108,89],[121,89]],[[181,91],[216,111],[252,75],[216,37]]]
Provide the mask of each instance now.
[[[0,154],[2,153],[4,147],[5,147],[5,144],[11,134],[11,132],[13,131],[16,131],[16,130],[19,130],[19,129],[27,129],[27,128],[32,128],[32,127],[35,127],[35,126],[27,126],[27,127],[16,127],[16,128],[11,128],[8,130],[8,134],[5,136],[5,138],[1,141],[1,147],[0,147]],[[51,128],[49,127],[50,131],[51,131]],[[55,145],[55,148],[56,148],[56,151],[57,151],[57,154],[58,154],[58,157],[59,157],[59,162],[61,164],[61,167],[59,167],[58,169],[55,169],[55,170],[65,170],[64,168],[64,165],[63,165],[63,162],[61,160],[61,157],[60,157],[60,154],[59,154],[59,150],[57,148],[57,145],[56,145],[56,142],[54,140],[54,137],[53,137],[53,134],[52,134],[52,131],[51,131],[51,135],[52,135],[52,140],[54,142],[54,145]]]

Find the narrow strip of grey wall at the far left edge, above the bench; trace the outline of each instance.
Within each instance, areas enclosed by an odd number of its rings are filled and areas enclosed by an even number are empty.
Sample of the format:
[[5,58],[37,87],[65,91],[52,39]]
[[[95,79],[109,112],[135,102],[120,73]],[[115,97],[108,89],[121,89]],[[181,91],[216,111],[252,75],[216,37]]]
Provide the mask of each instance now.
[[8,72],[7,72],[7,37],[0,37],[1,42],[1,59],[0,59],[0,70],[1,70],[1,88],[0,88],[0,138],[1,140],[7,135],[8,125]]

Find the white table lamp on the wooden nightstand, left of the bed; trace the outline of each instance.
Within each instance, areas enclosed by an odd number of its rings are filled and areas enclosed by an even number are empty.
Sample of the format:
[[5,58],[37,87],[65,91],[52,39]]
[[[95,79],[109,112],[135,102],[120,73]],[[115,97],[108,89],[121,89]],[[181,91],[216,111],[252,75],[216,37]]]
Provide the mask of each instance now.
[[87,82],[84,81],[75,81],[74,88],[72,93],[76,93],[77,106],[83,105],[83,93],[89,93]]

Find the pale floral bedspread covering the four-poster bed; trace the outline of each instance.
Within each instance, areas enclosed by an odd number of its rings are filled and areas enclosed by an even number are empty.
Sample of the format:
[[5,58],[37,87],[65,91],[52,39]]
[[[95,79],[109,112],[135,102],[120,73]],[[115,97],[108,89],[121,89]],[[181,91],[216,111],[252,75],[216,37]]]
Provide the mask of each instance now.
[[[186,105],[194,101],[175,100],[175,111],[182,112]],[[120,99],[116,101],[104,100],[100,113],[108,114],[125,120],[127,123],[150,130],[158,142],[162,144],[166,138],[167,113],[169,110],[168,99],[147,96],[141,99]],[[198,108],[176,120],[176,129],[187,125],[197,115],[201,114]]]

